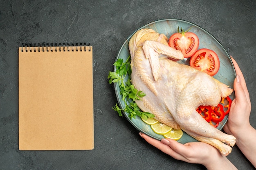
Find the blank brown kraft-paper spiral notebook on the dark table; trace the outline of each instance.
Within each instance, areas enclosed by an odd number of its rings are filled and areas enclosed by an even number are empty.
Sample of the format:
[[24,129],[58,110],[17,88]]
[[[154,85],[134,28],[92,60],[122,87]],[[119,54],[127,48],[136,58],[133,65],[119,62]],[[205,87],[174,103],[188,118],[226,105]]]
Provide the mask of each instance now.
[[19,149],[94,148],[92,46],[19,47]]

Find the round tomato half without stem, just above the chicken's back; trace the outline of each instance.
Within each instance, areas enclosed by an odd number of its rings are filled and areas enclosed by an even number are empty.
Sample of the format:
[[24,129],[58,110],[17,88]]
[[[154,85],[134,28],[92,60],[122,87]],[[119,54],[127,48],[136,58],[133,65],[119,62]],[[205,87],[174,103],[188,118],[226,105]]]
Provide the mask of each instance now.
[[207,48],[199,49],[190,58],[189,65],[197,70],[214,76],[220,69],[220,59],[216,52]]

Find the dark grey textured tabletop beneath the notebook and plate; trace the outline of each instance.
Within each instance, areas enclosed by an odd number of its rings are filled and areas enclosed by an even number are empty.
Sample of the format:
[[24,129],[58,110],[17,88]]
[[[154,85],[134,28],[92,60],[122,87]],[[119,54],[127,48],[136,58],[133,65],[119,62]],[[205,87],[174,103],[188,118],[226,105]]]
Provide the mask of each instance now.
[[[0,0],[0,169],[205,169],[149,145],[112,109],[117,99],[107,76],[121,45],[137,28],[167,18],[204,28],[236,59],[247,82],[250,122],[256,128],[255,0]],[[18,149],[18,46],[26,42],[92,44],[93,150]],[[228,159],[240,170],[254,169],[237,146]]]

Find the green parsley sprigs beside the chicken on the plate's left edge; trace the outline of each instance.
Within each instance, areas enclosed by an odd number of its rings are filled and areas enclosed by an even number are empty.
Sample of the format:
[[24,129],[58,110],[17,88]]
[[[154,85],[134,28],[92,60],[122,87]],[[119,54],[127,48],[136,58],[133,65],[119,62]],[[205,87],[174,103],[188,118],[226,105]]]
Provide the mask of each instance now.
[[122,116],[122,111],[128,113],[128,117],[130,119],[135,118],[136,116],[146,120],[148,118],[153,118],[155,117],[153,114],[141,111],[135,102],[135,100],[141,100],[141,98],[146,96],[146,94],[137,90],[134,85],[132,85],[130,81],[130,75],[132,73],[130,62],[131,56],[129,56],[126,61],[123,59],[117,59],[117,61],[114,63],[116,72],[109,72],[108,74],[108,82],[110,84],[117,83],[119,85],[120,94],[126,106],[124,109],[121,109],[116,104],[114,107],[112,107],[112,109],[117,111],[119,116]]

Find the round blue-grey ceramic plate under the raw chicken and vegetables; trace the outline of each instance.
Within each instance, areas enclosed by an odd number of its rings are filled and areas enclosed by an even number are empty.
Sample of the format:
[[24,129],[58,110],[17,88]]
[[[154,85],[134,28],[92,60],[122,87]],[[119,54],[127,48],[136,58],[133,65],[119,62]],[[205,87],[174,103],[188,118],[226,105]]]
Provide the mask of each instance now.
[[[158,33],[165,34],[169,38],[173,33],[177,32],[178,26],[182,27],[182,29],[184,29],[184,30],[187,30],[188,28],[193,26],[193,28],[191,28],[190,32],[193,32],[198,36],[199,41],[200,41],[199,49],[200,48],[208,48],[208,49],[215,51],[218,54],[218,57],[220,59],[220,70],[214,76],[214,78],[218,79],[220,82],[225,83],[226,85],[229,85],[231,88],[233,88],[233,81],[234,81],[234,78],[236,77],[236,72],[234,70],[233,63],[232,63],[227,51],[222,47],[222,45],[211,34],[209,34],[204,29],[200,28],[199,26],[197,26],[195,24],[192,24],[190,22],[186,22],[183,20],[166,19],[166,20],[158,20],[155,22],[151,22],[145,26],[142,26],[138,30],[140,30],[142,28],[151,28]],[[124,42],[124,44],[121,46],[121,49],[119,50],[119,53],[117,55],[117,59],[124,59],[124,61],[126,61],[128,56],[130,55],[128,44],[129,44],[130,38],[132,37],[132,35],[134,33],[132,33],[127,38],[127,40]],[[116,59],[116,61],[117,61],[117,59]],[[189,59],[188,59],[188,61],[186,61],[186,60],[187,59],[183,59],[178,62],[189,65]],[[116,68],[114,68],[114,71],[116,71]],[[119,106],[122,109],[124,109],[125,103],[122,100],[122,96],[120,95],[119,92],[120,92],[119,85],[117,85],[117,83],[115,83],[115,93],[117,96]],[[234,97],[235,96],[233,93],[230,96],[230,98],[233,100]],[[138,129],[139,131],[141,131],[155,139],[164,138],[163,135],[156,134],[151,129],[150,125],[144,123],[140,117],[137,116],[136,118],[132,118],[132,120],[130,120],[130,118],[128,117],[128,113],[124,113],[124,115],[126,116],[128,121],[133,126],[135,126],[135,128]],[[217,128],[221,130],[226,122],[227,122],[227,116],[224,118],[224,120],[222,120],[222,122],[220,122],[220,124]],[[187,143],[187,142],[195,142],[195,141],[196,140],[193,137],[187,135],[186,133],[184,133],[182,138],[178,140],[178,142],[183,143],[183,144]]]

